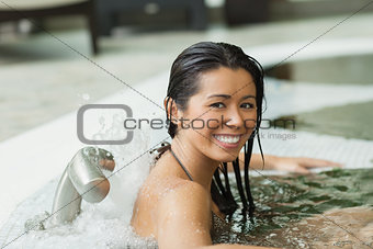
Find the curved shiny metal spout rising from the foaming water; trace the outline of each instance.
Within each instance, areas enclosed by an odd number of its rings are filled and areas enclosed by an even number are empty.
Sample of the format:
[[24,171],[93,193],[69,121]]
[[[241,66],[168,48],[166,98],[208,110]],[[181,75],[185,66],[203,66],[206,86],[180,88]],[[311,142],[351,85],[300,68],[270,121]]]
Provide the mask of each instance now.
[[94,147],[80,149],[66,167],[59,180],[53,208],[54,225],[72,222],[80,213],[81,199],[101,202],[110,191],[102,170],[113,171],[115,162],[111,152]]

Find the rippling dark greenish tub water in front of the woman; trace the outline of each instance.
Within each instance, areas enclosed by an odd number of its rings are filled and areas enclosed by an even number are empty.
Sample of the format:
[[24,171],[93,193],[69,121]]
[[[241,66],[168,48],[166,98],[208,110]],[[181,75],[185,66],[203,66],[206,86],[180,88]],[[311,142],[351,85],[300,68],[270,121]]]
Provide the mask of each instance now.
[[255,219],[237,211],[227,237],[235,231],[245,235],[242,244],[282,248],[373,246],[373,169],[257,177],[251,185]]

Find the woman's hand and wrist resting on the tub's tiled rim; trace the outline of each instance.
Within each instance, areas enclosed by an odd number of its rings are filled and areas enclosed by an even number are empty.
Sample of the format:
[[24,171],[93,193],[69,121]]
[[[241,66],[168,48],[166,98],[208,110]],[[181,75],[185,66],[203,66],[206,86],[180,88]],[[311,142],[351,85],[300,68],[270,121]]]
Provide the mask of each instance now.
[[[253,156],[253,155],[252,155]],[[260,156],[260,155],[257,155]],[[307,157],[276,157],[265,156],[264,169],[282,170],[293,173],[310,173],[312,168],[342,167],[341,163]]]

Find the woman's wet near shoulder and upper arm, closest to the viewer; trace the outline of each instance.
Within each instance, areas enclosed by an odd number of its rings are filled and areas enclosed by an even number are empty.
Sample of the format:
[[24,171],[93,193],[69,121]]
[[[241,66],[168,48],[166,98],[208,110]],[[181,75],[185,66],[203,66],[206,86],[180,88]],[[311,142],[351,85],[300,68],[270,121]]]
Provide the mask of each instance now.
[[210,235],[211,195],[199,183],[189,181],[169,191],[157,213],[157,240],[160,249],[260,248],[240,245],[214,245]]

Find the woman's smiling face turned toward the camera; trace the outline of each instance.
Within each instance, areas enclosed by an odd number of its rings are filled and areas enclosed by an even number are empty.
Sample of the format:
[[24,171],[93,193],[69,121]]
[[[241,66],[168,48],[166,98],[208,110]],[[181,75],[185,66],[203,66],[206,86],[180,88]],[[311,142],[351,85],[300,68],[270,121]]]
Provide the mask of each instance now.
[[213,160],[233,161],[256,126],[253,79],[242,68],[221,67],[202,73],[197,83],[199,92],[179,113],[177,136]]

